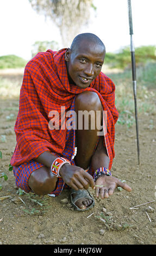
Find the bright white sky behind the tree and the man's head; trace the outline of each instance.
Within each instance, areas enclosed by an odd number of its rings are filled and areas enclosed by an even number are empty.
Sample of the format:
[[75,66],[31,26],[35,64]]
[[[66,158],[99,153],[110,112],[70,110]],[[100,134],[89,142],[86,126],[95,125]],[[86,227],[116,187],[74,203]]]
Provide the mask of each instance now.
[[[135,47],[156,45],[156,0],[131,0],[131,3]],[[96,34],[107,52],[130,45],[127,0],[95,0],[94,4],[96,17],[78,34]],[[0,56],[15,54],[26,60],[31,58],[35,41],[61,41],[59,29],[36,14],[28,0],[0,0],[0,36]],[[60,48],[70,44],[60,43]]]

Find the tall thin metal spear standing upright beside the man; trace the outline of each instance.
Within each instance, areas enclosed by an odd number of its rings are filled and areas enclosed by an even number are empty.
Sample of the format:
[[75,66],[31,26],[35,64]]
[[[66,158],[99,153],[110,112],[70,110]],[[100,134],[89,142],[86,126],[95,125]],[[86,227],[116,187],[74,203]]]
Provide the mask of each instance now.
[[131,62],[132,62],[132,79],[133,79],[133,93],[134,93],[134,106],[135,106],[136,140],[137,140],[137,149],[138,149],[138,164],[140,164],[139,124],[138,124],[138,108],[137,108],[137,100],[136,100],[136,65],[135,65],[135,48],[134,48],[134,42],[133,42],[131,0],[128,0],[128,17],[129,17],[130,52],[131,52]]

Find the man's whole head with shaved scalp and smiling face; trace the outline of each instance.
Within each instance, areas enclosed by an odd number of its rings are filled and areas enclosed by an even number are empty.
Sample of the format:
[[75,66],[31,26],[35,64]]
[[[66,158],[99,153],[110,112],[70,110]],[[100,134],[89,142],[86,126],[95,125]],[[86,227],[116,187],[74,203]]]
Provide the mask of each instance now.
[[98,36],[91,33],[77,35],[65,52],[70,83],[79,88],[89,87],[101,72],[104,57],[105,46]]

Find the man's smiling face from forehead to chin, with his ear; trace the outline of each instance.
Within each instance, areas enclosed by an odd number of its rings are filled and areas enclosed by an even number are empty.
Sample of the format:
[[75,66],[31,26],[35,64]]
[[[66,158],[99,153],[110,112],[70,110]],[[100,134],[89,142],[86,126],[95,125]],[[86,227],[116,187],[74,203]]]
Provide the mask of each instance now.
[[68,49],[65,53],[65,60],[72,82],[80,88],[89,87],[101,72],[104,56],[103,46],[88,41],[80,42],[73,52]]

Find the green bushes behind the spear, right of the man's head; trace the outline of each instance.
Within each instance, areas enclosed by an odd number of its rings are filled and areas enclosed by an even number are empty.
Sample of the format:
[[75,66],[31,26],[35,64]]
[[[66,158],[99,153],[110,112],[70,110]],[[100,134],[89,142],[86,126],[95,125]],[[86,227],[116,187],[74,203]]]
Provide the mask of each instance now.
[[[136,66],[144,66],[151,60],[156,60],[155,46],[141,46],[135,48],[135,62]],[[118,53],[106,53],[105,64],[110,68],[125,69],[131,67],[130,47],[122,48]]]

